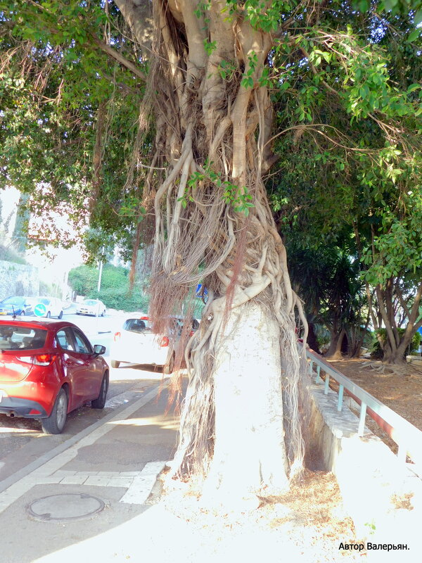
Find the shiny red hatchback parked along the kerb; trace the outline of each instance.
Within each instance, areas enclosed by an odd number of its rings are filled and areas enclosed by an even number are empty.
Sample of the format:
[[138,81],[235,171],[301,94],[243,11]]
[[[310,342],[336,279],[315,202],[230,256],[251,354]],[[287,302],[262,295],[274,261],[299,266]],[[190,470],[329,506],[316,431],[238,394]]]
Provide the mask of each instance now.
[[89,400],[104,407],[105,352],[71,322],[1,319],[0,414],[40,419],[45,434],[60,434],[68,412]]

